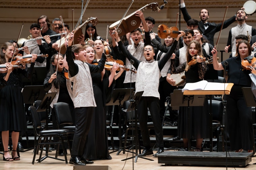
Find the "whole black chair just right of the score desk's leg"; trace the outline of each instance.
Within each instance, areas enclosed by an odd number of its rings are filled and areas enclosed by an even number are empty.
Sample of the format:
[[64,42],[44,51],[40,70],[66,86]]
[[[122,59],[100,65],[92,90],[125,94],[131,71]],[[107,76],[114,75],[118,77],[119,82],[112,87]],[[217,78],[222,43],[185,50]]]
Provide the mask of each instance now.
[[[210,100],[208,100],[210,107]],[[218,100],[212,100],[212,113],[213,113],[213,131],[216,131],[217,137],[217,152],[219,152],[219,133],[223,131],[222,116],[223,116],[223,103]],[[224,152],[224,136],[222,136],[222,151]]]

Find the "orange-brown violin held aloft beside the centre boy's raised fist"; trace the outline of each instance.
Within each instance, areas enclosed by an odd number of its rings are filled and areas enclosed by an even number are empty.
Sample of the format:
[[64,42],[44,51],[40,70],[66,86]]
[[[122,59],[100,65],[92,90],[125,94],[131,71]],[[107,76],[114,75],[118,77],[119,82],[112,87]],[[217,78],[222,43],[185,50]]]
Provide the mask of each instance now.
[[[185,32],[186,33],[186,32]],[[158,37],[165,39],[168,36],[172,38],[177,38],[181,34],[176,26],[169,27],[167,25],[161,24],[157,28]]]

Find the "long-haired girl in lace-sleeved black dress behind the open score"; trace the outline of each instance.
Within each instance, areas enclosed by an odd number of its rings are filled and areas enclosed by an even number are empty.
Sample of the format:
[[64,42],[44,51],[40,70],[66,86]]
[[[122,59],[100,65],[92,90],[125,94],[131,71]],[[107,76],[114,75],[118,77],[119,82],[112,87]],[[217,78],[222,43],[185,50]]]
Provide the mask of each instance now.
[[[174,60],[171,59],[171,66],[167,73],[178,74],[185,71],[186,83],[193,83],[203,80],[204,74],[207,70],[205,62],[200,59],[202,55],[202,48],[198,41],[193,40],[189,43],[187,48],[186,59],[182,65],[175,67]],[[193,66],[188,65],[192,57],[196,56],[197,63]],[[168,77],[168,76],[167,76]],[[173,84],[174,85],[174,82]],[[209,123],[208,123],[208,101],[205,99],[204,106],[193,106],[189,109],[190,127],[188,127],[188,107],[181,107],[179,111],[178,122],[178,136],[183,138],[185,150],[188,148],[188,129],[191,130],[190,138],[196,139],[196,150],[202,151],[203,138],[209,137]]]

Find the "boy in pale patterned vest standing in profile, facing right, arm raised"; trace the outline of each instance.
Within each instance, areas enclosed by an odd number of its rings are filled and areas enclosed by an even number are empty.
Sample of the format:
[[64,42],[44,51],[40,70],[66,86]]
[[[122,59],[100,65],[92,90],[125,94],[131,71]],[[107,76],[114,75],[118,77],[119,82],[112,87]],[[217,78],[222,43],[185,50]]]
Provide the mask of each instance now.
[[72,154],[69,163],[74,165],[92,164],[82,157],[86,137],[88,135],[93,107],[96,107],[94,100],[91,72],[101,72],[104,69],[106,56],[103,53],[98,65],[84,62],[86,53],[81,44],[72,46],[74,34],[71,33],[68,39],[66,60],[68,63],[68,76],[73,82],[73,103],[75,107],[76,125],[72,144]]

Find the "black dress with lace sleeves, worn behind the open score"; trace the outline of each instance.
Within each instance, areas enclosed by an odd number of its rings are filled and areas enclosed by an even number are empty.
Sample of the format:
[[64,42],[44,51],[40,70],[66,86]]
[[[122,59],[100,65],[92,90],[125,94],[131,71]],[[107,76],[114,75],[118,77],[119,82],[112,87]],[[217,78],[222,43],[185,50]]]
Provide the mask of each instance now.
[[[171,67],[174,68],[174,60],[171,60]],[[181,66],[176,67],[171,73],[178,74],[183,72],[186,67],[186,62]],[[170,70],[170,69],[169,69]],[[168,71],[169,72],[169,71]],[[186,83],[198,82],[203,79],[204,73],[206,72],[205,63],[197,63],[185,71]],[[188,119],[189,111],[189,119]],[[188,127],[188,120],[191,120],[190,127]],[[180,138],[188,138],[188,129],[191,129],[190,138],[208,138],[209,137],[209,111],[208,111],[208,100],[205,98],[204,106],[193,106],[180,107],[179,110],[179,122],[178,122],[178,136]]]

